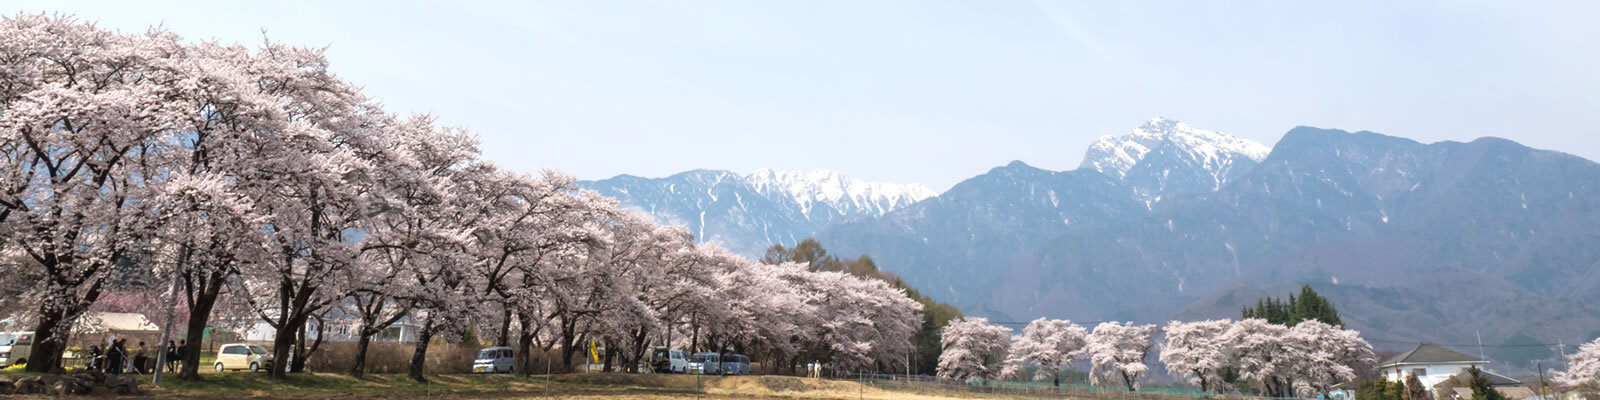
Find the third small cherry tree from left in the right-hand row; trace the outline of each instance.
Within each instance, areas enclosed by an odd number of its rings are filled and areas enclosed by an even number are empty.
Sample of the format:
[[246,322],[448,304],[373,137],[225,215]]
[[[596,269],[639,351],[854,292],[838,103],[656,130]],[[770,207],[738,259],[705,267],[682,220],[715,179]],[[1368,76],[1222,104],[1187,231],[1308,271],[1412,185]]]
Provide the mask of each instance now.
[[1091,382],[1117,376],[1130,392],[1139,390],[1139,378],[1150,370],[1144,357],[1149,355],[1154,339],[1155,325],[1102,322],[1094,326],[1083,349],[1094,365],[1090,373]]

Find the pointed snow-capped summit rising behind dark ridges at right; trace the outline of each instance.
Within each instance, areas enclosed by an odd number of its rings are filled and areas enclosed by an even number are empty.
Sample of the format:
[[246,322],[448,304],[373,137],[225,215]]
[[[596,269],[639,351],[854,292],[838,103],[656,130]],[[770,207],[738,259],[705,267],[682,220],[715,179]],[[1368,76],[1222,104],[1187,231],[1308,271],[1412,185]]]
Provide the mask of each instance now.
[[1245,174],[1272,149],[1243,138],[1150,118],[1122,136],[1090,144],[1080,170],[1120,179],[1146,205],[1166,194],[1211,192]]

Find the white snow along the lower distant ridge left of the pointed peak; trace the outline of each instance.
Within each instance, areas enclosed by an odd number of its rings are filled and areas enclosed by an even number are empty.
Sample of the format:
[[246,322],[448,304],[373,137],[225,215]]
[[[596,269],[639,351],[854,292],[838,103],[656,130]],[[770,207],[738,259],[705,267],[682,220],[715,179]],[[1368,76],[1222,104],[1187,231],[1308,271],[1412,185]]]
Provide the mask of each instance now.
[[760,194],[794,198],[808,218],[814,203],[826,203],[838,213],[867,211],[882,216],[894,208],[938,195],[920,184],[867,182],[834,170],[774,171],[762,168],[744,179]]

